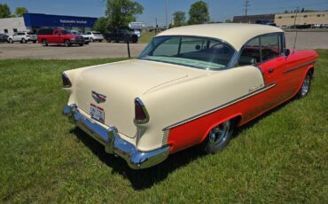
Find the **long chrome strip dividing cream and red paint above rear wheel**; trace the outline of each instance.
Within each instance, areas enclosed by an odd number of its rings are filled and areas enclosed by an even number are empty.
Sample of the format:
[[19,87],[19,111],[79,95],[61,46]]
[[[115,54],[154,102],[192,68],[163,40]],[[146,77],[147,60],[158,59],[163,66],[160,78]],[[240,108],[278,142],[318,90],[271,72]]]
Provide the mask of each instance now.
[[231,105],[233,105],[233,104],[238,103],[238,102],[241,101],[241,100],[245,100],[246,98],[253,97],[254,95],[256,95],[256,94],[258,94],[258,93],[261,93],[261,92],[263,92],[263,91],[265,91],[265,90],[269,90],[269,89],[273,88],[273,87],[276,86],[276,85],[277,85],[277,83],[276,83],[276,82],[273,82],[273,83],[269,84],[268,86],[262,87],[261,89],[258,89],[258,90],[254,90],[253,92],[250,92],[250,93],[248,93],[248,94],[246,94],[246,95],[244,95],[244,96],[242,96],[242,97],[240,97],[240,98],[236,98],[236,99],[234,99],[234,100],[231,100],[230,102],[225,103],[225,104],[223,104],[223,105],[221,105],[221,106],[217,106],[217,107],[212,108],[212,109],[210,109],[210,110],[208,110],[208,111],[206,111],[206,112],[203,112],[203,113],[201,113],[201,114],[196,114],[196,115],[194,115],[194,116],[191,116],[190,118],[187,118],[187,119],[185,119],[185,120],[183,120],[183,121],[181,121],[181,122],[176,122],[176,123],[174,123],[174,124],[172,124],[172,125],[169,125],[168,127],[164,128],[163,131],[166,131],[166,130],[168,130],[168,129],[175,128],[176,126],[178,126],[178,125],[182,125],[182,124],[184,124],[184,123],[186,123],[186,122],[191,122],[191,121],[193,121],[193,120],[195,120],[195,119],[198,119],[198,118],[200,118],[200,117],[202,117],[202,116],[204,116],[204,115],[212,114],[213,112],[218,111],[218,110],[221,110],[221,109],[223,109],[224,107],[231,106]]

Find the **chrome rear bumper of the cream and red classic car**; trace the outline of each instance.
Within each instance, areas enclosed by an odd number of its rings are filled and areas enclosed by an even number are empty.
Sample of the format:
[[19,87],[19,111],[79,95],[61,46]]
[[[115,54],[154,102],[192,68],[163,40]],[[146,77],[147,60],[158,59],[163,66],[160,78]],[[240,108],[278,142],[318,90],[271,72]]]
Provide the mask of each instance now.
[[75,104],[65,106],[63,114],[80,129],[97,139],[100,144],[105,145],[106,153],[113,153],[127,161],[131,169],[149,168],[168,158],[169,146],[151,152],[140,152],[135,145],[120,137],[118,129],[115,127],[105,129],[92,122],[79,112]]

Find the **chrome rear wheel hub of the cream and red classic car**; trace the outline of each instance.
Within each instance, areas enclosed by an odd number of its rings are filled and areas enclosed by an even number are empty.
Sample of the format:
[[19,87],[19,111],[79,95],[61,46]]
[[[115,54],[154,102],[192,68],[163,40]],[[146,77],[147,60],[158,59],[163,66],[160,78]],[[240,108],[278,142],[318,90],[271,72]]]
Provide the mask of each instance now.
[[227,138],[230,131],[230,122],[223,122],[209,132],[209,143],[220,145]]

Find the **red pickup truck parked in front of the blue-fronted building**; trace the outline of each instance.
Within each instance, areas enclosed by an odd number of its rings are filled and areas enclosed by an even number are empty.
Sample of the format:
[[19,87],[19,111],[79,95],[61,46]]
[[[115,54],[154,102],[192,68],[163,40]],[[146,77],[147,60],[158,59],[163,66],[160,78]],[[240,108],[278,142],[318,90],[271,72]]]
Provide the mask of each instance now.
[[48,46],[50,43],[65,44],[66,47],[72,44],[83,46],[84,38],[82,35],[74,35],[70,30],[42,28],[37,32],[37,42]]

